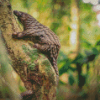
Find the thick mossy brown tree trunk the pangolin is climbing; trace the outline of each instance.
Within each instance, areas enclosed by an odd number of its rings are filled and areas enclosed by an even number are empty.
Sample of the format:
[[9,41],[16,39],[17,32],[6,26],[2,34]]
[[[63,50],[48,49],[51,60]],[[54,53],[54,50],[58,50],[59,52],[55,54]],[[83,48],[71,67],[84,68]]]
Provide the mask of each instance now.
[[[12,67],[20,75],[28,92],[29,100],[55,100],[56,73],[48,59],[32,48],[33,43],[12,38],[20,28],[12,13],[9,0],[0,0],[0,30],[12,61]],[[26,100],[26,97],[25,97]]]

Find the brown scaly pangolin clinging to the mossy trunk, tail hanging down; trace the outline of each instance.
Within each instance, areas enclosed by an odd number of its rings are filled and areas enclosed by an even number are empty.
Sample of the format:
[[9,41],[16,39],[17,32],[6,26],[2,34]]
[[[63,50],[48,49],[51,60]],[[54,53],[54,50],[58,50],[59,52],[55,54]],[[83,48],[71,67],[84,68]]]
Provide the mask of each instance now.
[[24,31],[14,33],[12,35],[13,38],[25,38],[33,41],[34,47],[49,59],[56,72],[57,80],[59,80],[57,57],[60,49],[60,42],[56,34],[27,13],[16,10],[13,11],[13,13],[17,16],[18,20],[24,27]]

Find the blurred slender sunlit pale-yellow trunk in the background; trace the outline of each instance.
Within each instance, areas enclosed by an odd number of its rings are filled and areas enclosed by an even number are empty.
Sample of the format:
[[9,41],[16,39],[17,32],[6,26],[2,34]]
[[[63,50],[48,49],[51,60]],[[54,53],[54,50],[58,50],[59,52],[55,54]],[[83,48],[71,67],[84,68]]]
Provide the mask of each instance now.
[[70,48],[73,52],[70,56],[75,58],[79,52],[79,0],[71,0],[71,32],[70,32]]

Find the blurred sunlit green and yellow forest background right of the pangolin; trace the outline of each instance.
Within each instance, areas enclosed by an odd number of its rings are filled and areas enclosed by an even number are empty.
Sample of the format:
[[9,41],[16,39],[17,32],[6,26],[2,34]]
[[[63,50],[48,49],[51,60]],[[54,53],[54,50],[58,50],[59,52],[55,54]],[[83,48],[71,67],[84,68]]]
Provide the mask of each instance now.
[[100,1],[10,2],[13,10],[31,14],[59,37],[57,100],[100,100]]

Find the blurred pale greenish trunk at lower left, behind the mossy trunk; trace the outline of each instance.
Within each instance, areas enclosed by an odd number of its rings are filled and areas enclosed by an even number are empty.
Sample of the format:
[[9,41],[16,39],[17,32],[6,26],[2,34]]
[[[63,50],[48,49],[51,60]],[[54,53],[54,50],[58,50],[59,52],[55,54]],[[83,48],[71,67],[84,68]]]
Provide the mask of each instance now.
[[[18,85],[12,75],[11,65],[9,64],[8,54],[1,34],[2,33],[0,31],[0,100],[1,98],[7,98],[8,96],[10,96],[11,100],[21,100]],[[5,86],[8,89],[7,93],[3,91]]]

